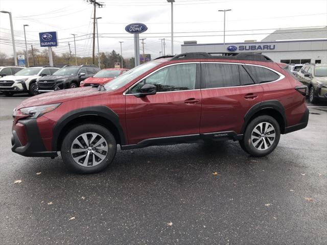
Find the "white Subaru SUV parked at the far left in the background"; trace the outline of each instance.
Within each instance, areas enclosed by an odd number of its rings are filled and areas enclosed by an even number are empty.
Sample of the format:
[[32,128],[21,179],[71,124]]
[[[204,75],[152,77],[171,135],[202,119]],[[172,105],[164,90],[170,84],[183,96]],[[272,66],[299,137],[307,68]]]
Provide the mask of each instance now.
[[43,76],[51,75],[58,69],[51,66],[30,66],[21,69],[15,75],[0,79],[0,91],[6,96],[12,96],[14,93],[22,92],[28,92],[32,96],[36,95],[38,94],[36,80]]

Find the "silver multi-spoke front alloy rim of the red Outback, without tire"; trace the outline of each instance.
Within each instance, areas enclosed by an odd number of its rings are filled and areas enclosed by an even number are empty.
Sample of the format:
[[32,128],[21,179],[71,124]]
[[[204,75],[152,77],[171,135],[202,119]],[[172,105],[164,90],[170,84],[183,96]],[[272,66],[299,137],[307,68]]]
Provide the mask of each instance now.
[[71,155],[77,164],[93,167],[100,164],[108,155],[108,143],[98,133],[83,133],[73,141]]

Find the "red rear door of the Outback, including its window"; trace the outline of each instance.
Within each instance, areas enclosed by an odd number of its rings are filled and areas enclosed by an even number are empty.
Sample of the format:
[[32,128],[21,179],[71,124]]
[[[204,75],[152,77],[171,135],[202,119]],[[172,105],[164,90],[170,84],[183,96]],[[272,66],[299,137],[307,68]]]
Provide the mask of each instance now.
[[262,101],[263,92],[243,65],[202,62],[200,134],[217,138],[239,133],[246,112]]

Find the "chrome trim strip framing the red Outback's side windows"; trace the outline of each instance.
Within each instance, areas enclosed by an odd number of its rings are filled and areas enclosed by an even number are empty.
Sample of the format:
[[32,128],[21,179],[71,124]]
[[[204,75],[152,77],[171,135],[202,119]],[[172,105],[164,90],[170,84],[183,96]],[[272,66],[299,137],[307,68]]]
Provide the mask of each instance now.
[[267,84],[267,83],[274,83],[274,82],[278,82],[282,79],[285,78],[285,76],[283,74],[281,74],[280,72],[270,68],[270,67],[267,67],[267,66],[263,66],[263,65],[256,65],[256,64],[246,64],[246,63],[237,63],[237,62],[217,62],[217,61],[197,61],[197,62],[181,62],[181,63],[173,63],[173,64],[169,64],[169,65],[165,65],[165,66],[162,66],[160,67],[159,69],[157,70],[154,70],[152,71],[150,74],[148,74],[147,76],[145,76],[144,78],[142,78],[141,80],[138,80],[136,83],[134,83],[133,85],[131,85],[128,89],[126,89],[124,92],[123,92],[123,95],[137,95],[139,93],[129,93],[129,94],[126,94],[129,89],[133,88],[134,86],[136,86],[139,82],[142,82],[144,79],[146,79],[147,77],[151,76],[152,74],[154,74],[156,71],[159,71],[163,68],[166,68],[166,67],[169,67],[169,66],[172,66],[172,65],[179,65],[179,64],[232,64],[232,65],[252,65],[252,66],[259,66],[259,67],[263,67],[263,68],[266,68],[268,70],[271,70],[273,72],[275,72],[279,78],[277,80],[274,80],[274,81],[271,81],[271,82],[266,82],[266,83],[258,83],[258,84],[250,84],[250,85],[240,85],[240,86],[231,86],[231,87],[218,87],[218,88],[200,88],[200,89],[190,89],[190,90],[178,90],[178,91],[166,91],[166,92],[157,92],[157,93],[171,93],[171,92],[185,92],[185,91],[196,91],[196,90],[208,90],[208,89],[222,89],[222,88],[239,88],[239,87],[248,87],[248,86],[257,86],[257,85],[263,85],[263,84]]

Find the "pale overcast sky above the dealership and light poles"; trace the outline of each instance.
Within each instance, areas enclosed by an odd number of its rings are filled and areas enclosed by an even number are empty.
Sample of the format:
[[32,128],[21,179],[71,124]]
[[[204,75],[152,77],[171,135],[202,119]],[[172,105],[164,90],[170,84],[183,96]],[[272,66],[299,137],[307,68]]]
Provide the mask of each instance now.
[[[152,58],[159,56],[161,41],[166,38],[166,54],[171,53],[171,5],[167,0],[99,0],[103,8],[97,8],[99,19],[100,52],[134,55],[133,35],[125,31],[132,22],[142,22],[148,31],[140,34],[145,40],[145,53]],[[232,9],[226,13],[226,43],[244,40],[260,41],[279,28],[327,26],[326,0],[274,0],[274,1],[227,1],[227,0],[175,0],[174,3],[174,53],[180,53],[184,40],[198,43],[223,42],[223,13],[219,9]],[[84,0],[0,0],[0,10],[10,11],[13,16],[16,50],[23,50],[26,28],[28,48],[42,50],[38,32],[57,31],[57,53],[68,52],[68,42],[74,51],[74,38],[78,56],[91,56],[92,5]],[[264,30],[258,30],[264,29]],[[269,30],[270,29],[270,30]],[[247,31],[256,30],[256,31]],[[0,13],[0,51],[12,55],[8,14]],[[140,42],[141,44],[141,42]],[[142,45],[141,45],[142,53]]]

